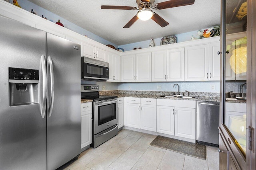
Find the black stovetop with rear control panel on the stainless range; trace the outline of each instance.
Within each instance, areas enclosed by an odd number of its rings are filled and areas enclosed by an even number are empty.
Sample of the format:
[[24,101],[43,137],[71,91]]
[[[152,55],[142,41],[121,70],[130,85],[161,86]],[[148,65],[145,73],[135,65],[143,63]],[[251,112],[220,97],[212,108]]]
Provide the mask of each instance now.
[[96,102],[114,98],[117,98],[117,96],[100,96],[98,85],[81,85],[81,99],[91,99]]

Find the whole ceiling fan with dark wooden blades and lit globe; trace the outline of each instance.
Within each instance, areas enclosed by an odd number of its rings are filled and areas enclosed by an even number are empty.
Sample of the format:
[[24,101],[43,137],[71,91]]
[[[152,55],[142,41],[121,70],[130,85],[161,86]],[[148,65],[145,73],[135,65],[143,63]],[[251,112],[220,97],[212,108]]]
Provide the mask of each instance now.
[[178,6],[192,5],[195,0],[169,0],[166,2],[160,2],[158,4],[154,4],[155,0],[136,0],[138,4],[138,8],[132,6],[111,6],[111,5],[102,5],[101,9],[108,10],[139,10],[137,14],[124,25],[124,28],[130,28],[135,21],[139,18],[140,20],[149,20],[150,18],[154,20],[161,27],[165,27],[169,23],[160,17],[158,14],[152,11],[154,10],[162,10],[166,8],[173,8]]

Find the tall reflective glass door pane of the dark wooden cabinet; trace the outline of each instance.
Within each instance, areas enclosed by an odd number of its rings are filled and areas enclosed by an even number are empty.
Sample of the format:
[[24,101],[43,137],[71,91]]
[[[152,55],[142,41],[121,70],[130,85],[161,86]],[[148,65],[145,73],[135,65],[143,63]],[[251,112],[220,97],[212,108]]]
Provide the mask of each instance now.
[[222,5],[222,125],[245,158],[247,1],[222,0]]

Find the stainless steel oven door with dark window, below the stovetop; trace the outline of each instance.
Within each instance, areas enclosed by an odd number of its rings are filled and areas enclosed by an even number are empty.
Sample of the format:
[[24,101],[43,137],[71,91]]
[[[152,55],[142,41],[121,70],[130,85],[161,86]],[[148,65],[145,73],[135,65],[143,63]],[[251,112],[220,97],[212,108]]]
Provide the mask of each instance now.
[[94,135],[116,125],[117,98],[94,103]]

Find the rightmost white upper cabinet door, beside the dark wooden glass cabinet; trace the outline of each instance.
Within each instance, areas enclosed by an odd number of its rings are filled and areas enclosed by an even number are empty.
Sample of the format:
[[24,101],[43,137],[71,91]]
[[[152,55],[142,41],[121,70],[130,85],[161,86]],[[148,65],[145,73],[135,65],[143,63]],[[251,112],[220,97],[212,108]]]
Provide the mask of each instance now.
[[220,43],[211,43],[209,45],[209,80],[220,81]]

